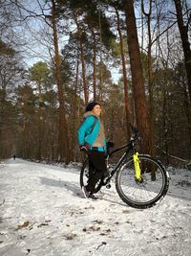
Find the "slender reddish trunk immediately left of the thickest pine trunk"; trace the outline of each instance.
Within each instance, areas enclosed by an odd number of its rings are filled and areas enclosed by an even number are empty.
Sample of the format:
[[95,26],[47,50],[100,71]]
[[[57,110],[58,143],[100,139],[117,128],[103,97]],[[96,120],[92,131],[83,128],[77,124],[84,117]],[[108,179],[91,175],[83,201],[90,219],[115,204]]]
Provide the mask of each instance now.
[[124,56],[124,47],[123,47],[123,38],[120,30],[120,19],[117,8],[115,7],[117,13],[117,31],[120,40],[120,55],[122,59],[122,74],[123,74],[123,84],[124,84],[124,104],[125,104],[125,116],[126,116],[126,126],[127,126],[127,138],[131,136],[131,128],[129,124],[132,124],[132,118],[130,115],[130,105],[129,105],[129,95],[128,95],[128,80],[127,72],[125,66],[125,56]]

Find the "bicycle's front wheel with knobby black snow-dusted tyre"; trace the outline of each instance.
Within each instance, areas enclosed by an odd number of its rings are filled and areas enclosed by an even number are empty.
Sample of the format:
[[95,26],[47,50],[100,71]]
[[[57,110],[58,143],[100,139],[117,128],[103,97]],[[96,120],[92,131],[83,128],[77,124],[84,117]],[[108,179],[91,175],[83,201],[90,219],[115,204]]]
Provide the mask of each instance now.
[[159,160],[149,155],[138,155],[141,179],[135,176],[133,157],[117,171],[116,186],[119,197],[128,205],[145,209],[163,198],[169,186],[169,176]]

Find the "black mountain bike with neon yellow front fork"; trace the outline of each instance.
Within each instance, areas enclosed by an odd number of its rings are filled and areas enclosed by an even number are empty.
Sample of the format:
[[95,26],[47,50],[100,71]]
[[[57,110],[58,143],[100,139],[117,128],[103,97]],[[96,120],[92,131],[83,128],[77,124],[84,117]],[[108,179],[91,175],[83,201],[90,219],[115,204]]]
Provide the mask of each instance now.
[[[96,183],[97,193],[102,186],[111,188],[111,179],[116,175],[118,196],[129,206],[145,209],[157,204],[166,195],[169,187],[169,175],[159,159],[148,154],[138,153],[138,130],[134,132],[128,144],[115,151],[109,149],[106,164],[109,175]],[[126,151],[121,155],[114,168],[109,165],[111,155],[117,151]],[[89,175],[88,158],[80,172],[80,186],[87,185]]]

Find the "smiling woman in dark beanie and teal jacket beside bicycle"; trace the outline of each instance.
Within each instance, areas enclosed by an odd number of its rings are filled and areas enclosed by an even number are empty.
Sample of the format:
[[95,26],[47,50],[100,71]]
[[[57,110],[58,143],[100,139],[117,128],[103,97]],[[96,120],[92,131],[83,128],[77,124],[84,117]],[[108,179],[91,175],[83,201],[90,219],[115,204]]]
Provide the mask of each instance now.
[[85,198],[96,199],[94,196],[96,182],[107,175],[105,163],[106,140],[101,121],[101,105],[92,102],[86,107],[84,120],[78,129],[80,151],[88,153],[89,179],[88,185],[82,187]]

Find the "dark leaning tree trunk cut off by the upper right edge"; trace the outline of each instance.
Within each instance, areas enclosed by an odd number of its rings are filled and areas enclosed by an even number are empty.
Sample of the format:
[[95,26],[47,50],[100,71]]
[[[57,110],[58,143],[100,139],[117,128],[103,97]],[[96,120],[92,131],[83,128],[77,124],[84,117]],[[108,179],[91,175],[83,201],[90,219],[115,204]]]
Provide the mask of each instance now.
[[185,26],[183,23],[183,15],[182,15],[182,7],[180,0],[174,0],[175,7],[177,11],[177,20],[178,20],[178,26],[180,30],[180,37],[181,37],[181,43],[183,48],[183,55],[184,55],[184,63],[185,63],[185,69],[187,74],[187,81],[188,81],[188,91],[189,91],[189,97],[191,101],[191,50],[190,50],[190,43],[188,40],[188,24]]

